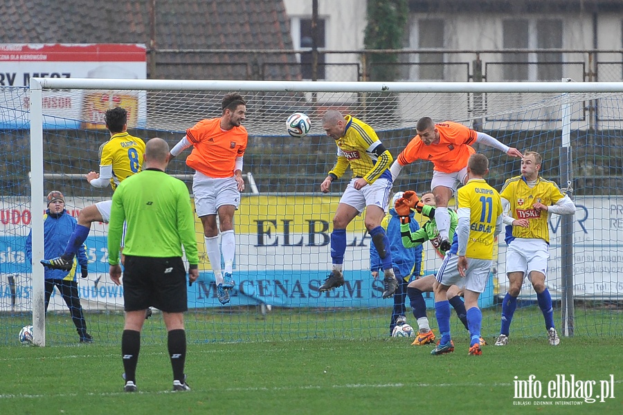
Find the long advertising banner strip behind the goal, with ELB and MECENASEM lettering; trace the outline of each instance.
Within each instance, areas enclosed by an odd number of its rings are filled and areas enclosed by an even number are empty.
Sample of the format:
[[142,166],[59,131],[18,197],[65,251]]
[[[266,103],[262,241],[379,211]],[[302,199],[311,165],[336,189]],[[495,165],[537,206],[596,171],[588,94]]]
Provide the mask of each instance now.
[[[93,199],[66,198],[69,214]],[[244,196],[235,215],[237,251],[234,264],[236,287],[232,305],[271,304],[285,307],[379,307],[390,306],[382,299],[380,280],[370,275],[370,237],[363,217],[347,228],[344,262],[345,285],[328,293],[318,292],[331,270],[330,234],[338,196]],[[623,295],[623,259],[618,234],[623,228],[623,199],[617,197],[578,197],[574,222],[574,279],[577,298],[620,297]],[[43,213],[43,212],[42,212]],[[24,244],[30,230],[27,198],[0,198],[0,311],[29,310],[31,293],[30,261]],[[196,221],[200,257],[200,277],[189,288],[190,308],[220,306],[214,277],[206,255],[203,231]],[[89,277],[80,279],[84,306],[95,309],[123,308],[123,286],[108,277],[107,225],[93,223],[87,239]],[[550,217],[550,261],[547,284],[555,297],[560,293],[560,216]],[[487,283],[482,306],[492,303],[494,290],[505,293],[505,243],[500,238],[499,255],[494,261],[497,284]],[[430,243],[424,244],[424,275],[435,273],[440,257]],[[532,295],[529,286],[522,295]],[[427,298],[432,306],[432,296]],[[64,309],[60,295],[53,297],[52,309]]]

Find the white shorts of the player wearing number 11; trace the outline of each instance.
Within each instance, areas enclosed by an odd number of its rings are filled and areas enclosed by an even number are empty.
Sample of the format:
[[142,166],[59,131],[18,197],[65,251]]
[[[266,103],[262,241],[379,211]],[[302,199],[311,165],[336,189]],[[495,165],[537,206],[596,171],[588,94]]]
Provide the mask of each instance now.
[[491,275],[491,259],[467,258],[465,277],[458,272],[458,255],[448,252],[437,271],[437,281],[444,286],[455,285],[474,293],[483,293]]

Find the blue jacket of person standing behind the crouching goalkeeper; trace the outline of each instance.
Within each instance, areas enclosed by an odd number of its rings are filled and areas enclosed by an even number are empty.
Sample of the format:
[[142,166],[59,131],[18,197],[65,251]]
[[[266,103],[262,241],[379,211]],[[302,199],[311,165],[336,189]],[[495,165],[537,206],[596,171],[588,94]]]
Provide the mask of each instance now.
[[[415,212],[413,212],[413,210],[409,214],[409,227],[411,232],[419,230],[419,223],[417,223],[413,217],[414,214]],[[412,275],[417,277],[420,268],[422,268],[422,246],[404,248],[400,234],[400,218],[394,208],[390,209],[385,219],[383,219],[381,226],[386,229],[387,237],[390,241],[390,252],[392,253],[392,265],[394,269],[400,273],[400,277],[404,278],[405,281],[409,281]],[[374,243],[370,243],[370,270],[382,271],[381,257],[379,257],[379,252],[377,252]]]

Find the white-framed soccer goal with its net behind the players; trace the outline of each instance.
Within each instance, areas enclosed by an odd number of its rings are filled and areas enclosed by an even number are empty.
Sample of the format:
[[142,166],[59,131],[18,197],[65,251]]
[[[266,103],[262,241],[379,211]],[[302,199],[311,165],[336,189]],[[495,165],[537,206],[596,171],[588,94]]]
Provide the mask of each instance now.
[[[394,158],[415,136],[415,124],[423,116],[460,122],[521,151],[538,151],[543,156],[541,175],[559,183],[577,205],[575,216],[549,219],[547,285],[557,327],[568,335],[623,332],[623,84],[33,79],[30,89],[0,89],[0,157],[6,160],[0,167],[0,342],[17,344],[21,327],[33,322],[38,344],[79,340],[57,288],[42,318],[44,197],[53,190],[62,192],[66,214],[76,218],[82,208],[111,198],[110,187],[96,189],[84,178],[98,171],[98,149],[110,137],[103,124],[105,111],[124,107],[132,135],[145,141],[160,137],[172,147],[199,120],[221,116],[221,99],[229,91],[244,95],[244,127],[249,131],[244,156],[248,185],[235,213],[236,286],[231,302],[222,306],[197,219],[201,275],[188,289],[189,342],[390,334],[395,299],[381,298],[382,282],[371,276],[371,239],[362,216],[347,228],[344,286],[318,291],[331,270],[332,218],[350,180],[349,171],[333,183],[332,193],[320,192],[336,160],[336,145],[322,129],[327,109],[370,124]],[[285,120],[294,112],[311,118],[311,131],[304,138],[287,135]],[[491,147],[474,147],[489,157],[487,180],[496,189],[521,174],[518,159]],[[173,160],[168,173],[190,189],[194,172],[184,163],[188,154],[190,150]],[[393,191],[429,190],[432,167],[424,160],[408,165]],[[89,273],[82,279],[79,271],[75,280],[87,330],[96,342],[118,342],[123,285],[109,279],[107,225],[93,223],[86,244]],[[507,289],[505,250],[500,237],[480,297],[482,334],[489,340],[500,329],[500,302]],[[420,274],[435,273],[440,264],[437,252],[424,243]],[[436,331],[433,295],[424,297]],[[408,324],[417,330],[408,299],[399,299],[406,304]],[[451,321],[454,336],[467,339],[455,314]],[[527,280],[511,330],[514,336],[545,337],[536,293]],[[154,310],[143,339],[161,342],[162,331],[161,316]]]

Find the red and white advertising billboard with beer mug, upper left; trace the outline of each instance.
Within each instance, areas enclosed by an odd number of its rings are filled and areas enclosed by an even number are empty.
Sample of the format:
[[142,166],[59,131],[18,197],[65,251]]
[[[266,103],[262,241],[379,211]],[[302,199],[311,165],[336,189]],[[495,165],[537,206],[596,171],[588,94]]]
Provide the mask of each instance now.
[[[30,77],[145,79],[145,45],[140,44],[0,44],[0,129],[26,129]],[[144,91],[44,91],[44,128],[104,129],[104,113],[113,107],[128,111],[129,127],[147,120]]]

